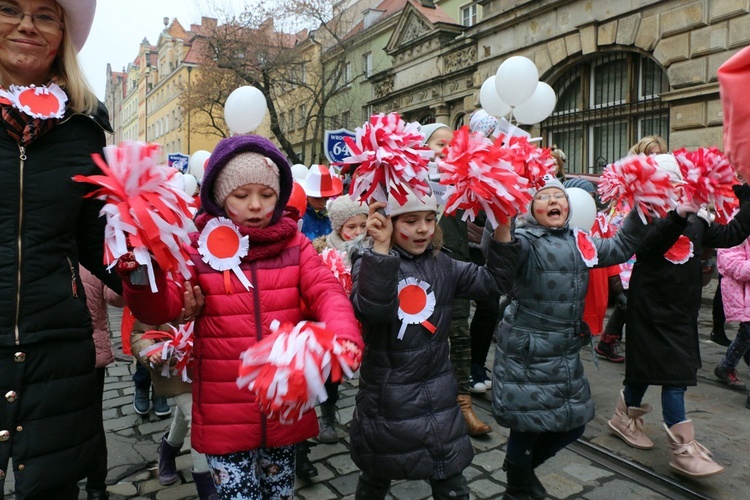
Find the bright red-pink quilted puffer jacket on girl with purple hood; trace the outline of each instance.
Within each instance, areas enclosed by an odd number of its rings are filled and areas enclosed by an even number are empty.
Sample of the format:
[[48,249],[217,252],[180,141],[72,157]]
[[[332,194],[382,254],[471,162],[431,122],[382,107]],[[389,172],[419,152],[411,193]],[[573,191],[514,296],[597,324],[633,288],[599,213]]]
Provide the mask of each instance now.
[[[363,347],[352,305],[331,271],[325,267],[310,240],[297,233],[275,257],[242,262],[241,269],[254,288],[245,290],[230,273],[232,293],[224,276],[205,264],[192,248],[194,277],[206,306],[196,320],[193,366],[193,424],[191,442],[201,452],[224,455],[261,446],[290,445],[317,435],[313,410],[291,425],[261,411],[253,394],[235,383],[240,354],[270,333],[273,320],[298,323],[302,301],[310,315],[333,330],[340,339]],[[147,286],[123,280],[125,298],[141,321],[161,324],[177,317],[182,308],[181,289],[159,273],[164,293],[152,294]]]

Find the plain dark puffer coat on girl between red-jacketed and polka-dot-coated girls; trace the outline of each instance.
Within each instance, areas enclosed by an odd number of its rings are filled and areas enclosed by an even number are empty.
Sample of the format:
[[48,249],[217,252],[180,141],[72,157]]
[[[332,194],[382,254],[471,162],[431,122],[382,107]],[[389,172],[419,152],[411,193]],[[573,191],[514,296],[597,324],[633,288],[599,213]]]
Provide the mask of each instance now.
[[[428,249],[381,255],[364,250],[352,272],[352,302],[362,322],[365,350],[350,429],[357,466],[389,479],[445,479],[460,473],[474,456],[456,399],[458,384],[449,359],[453,299],[499,295],[512,270],[499,247],[512,255],[517,244],[493,243],[485,267],[459,262]],[[398,319],[399,282],[415,278],[435,296],[427,318],[433,334],[409,324],[402,340]]]

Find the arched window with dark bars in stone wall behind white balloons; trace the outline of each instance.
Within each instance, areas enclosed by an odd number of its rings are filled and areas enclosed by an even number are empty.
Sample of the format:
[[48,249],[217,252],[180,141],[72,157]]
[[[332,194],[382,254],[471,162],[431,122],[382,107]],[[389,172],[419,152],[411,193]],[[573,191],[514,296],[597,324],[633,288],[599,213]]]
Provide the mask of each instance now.
[[557,106],[542,123],[547,145],[567,155],[569,172],[601,172],[646,135],[669,140],[669,90],[656,62],[634,52],[599,55],[553,84]]

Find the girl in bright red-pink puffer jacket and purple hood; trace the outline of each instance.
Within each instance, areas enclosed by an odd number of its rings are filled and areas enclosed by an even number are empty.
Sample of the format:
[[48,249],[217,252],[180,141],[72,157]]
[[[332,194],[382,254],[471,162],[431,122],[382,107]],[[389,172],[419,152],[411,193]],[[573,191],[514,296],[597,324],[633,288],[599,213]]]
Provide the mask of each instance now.
[[[303,320],[303,302],[342,343],[363,346],[343,288],[285,210],[292,182],[284,155],[253,135],[219,142],[203,177],[205,213],[189,248],[190,282],[205,297],[195,318],[191,444],[206,454],[221,498],[292,498],[294,444],[318,435],[314,410],[283,424],[237,387],[240,354],[274,320]],[[123,280],[128,306],[147,324],[174,320],[183,305],[180,283],[157,273],[156,294]]]

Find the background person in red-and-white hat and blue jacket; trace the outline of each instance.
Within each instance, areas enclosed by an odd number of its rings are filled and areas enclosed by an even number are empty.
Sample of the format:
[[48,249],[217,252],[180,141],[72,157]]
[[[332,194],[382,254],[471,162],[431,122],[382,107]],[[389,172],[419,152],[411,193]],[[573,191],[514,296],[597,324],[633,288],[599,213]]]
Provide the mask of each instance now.
[[302,233],[314,240],[331,232],[326,203],[344,190],[341,179],[331,173],[325,165],[312,165],[303,186],[307,194],[307,210],[302,217]]

